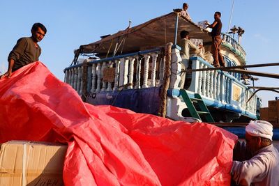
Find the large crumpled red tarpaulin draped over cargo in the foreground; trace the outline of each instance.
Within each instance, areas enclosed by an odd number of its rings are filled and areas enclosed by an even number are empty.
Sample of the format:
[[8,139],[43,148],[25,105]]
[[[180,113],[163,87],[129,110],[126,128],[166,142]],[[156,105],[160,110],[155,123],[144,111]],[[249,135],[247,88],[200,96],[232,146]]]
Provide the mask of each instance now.
[[82,102],[40,62],[0,80],[0,142],[67,142],[66,185],[229,185],[236,136]]

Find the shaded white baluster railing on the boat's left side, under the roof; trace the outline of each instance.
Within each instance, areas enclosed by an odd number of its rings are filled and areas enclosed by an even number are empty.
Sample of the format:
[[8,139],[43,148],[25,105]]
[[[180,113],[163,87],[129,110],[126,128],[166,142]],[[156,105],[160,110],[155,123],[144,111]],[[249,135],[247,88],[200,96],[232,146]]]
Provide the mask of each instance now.
[[[86,93],[160,86],[164,74],[164,56],[160,51],[156,48],[94,61],[86,59],[82,64],[66,68],[64,81],[80,94],[84,80]],[[85,74],[83,68],[87,68]]]

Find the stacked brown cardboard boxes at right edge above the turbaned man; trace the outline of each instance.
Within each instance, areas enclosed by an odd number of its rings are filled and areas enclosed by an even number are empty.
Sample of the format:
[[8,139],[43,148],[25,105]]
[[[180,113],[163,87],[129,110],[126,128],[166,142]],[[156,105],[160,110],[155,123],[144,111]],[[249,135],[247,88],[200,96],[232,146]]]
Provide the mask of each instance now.
[[269,121],[273,125],[279,123],[279,100],[269,101],[269,107],[261,108],[259,110],[260,119]]

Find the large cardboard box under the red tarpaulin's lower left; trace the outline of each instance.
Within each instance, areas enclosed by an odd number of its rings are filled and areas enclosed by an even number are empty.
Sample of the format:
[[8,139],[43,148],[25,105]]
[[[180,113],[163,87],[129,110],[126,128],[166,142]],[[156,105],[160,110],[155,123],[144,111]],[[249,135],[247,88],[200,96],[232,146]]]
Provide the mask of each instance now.
[[8,141],[0,150],[0,185],[63,185],[67,146]]

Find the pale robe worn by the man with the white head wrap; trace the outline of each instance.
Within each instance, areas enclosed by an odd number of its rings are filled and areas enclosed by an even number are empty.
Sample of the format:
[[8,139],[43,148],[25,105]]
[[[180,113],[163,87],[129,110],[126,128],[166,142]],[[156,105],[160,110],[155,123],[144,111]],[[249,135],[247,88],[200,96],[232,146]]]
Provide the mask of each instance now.
[[271,144],[257,150],[250,160],[234,161],[231,173],[236,184],[279,186],[278,150]]

